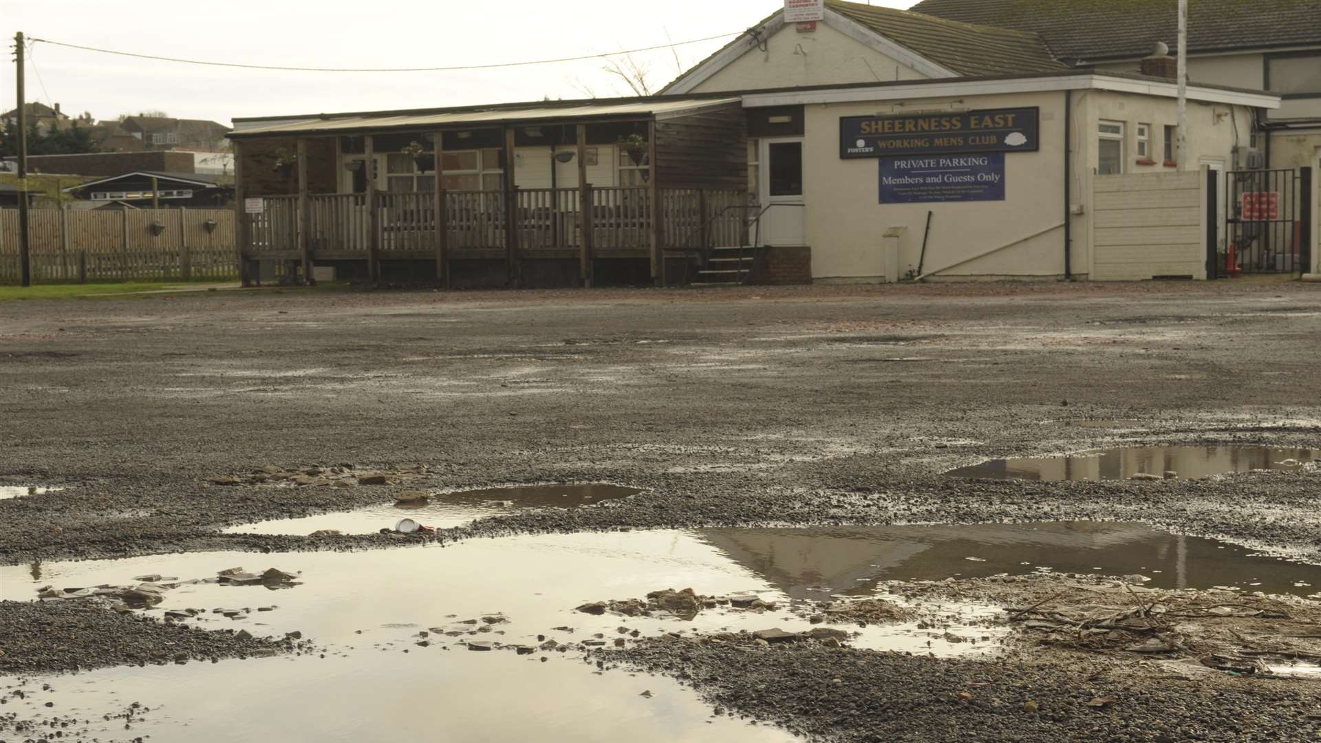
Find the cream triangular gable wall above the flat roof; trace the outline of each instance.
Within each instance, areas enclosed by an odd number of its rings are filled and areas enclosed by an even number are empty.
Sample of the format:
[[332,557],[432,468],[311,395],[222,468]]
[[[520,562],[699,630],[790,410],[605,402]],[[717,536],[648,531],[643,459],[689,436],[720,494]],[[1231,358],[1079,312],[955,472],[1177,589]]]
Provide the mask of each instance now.
[[781,28],[766,41],[766,52],[750,48],[694,91],[925,78],[917,70],[819,22],[811,33],[798,33],[793,25]]

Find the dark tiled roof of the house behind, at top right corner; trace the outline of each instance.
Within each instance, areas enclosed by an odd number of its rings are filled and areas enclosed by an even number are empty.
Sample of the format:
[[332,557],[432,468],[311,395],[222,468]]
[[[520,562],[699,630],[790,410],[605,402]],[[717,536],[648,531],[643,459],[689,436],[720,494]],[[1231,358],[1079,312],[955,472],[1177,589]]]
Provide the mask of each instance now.
[[[922,0],[955,21],[1040,33],[1058,58],[1104,59],[1174,49],[1177,0]],[[1321,45],[1321,0],[1190,0],[1190,52]]]

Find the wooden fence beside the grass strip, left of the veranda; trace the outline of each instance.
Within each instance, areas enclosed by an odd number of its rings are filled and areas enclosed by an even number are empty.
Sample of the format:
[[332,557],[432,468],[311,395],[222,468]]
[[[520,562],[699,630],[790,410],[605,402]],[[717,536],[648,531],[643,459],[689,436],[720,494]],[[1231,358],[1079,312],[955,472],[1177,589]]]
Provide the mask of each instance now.
[[[230,209],[28,212],[33,282],[238,276]],[[17,283],[18,210],[0,209],[0,283]]]

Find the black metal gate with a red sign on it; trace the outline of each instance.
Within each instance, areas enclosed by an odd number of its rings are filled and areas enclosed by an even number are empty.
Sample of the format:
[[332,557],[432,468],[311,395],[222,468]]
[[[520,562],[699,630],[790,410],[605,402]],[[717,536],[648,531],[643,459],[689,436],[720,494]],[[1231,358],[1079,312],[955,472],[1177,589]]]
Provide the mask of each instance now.
[[1312,169],[1230,171],[1226,251],[1217,274],[1306,271],[1312,245]]

